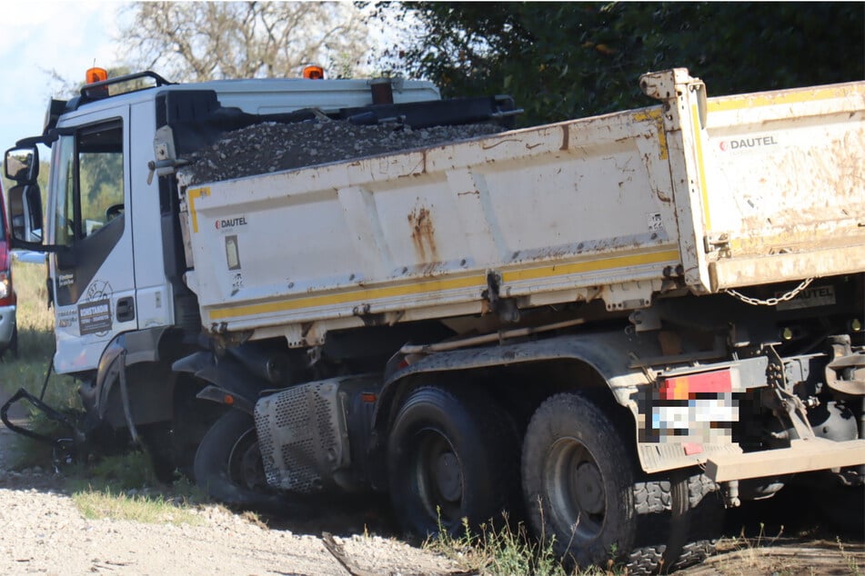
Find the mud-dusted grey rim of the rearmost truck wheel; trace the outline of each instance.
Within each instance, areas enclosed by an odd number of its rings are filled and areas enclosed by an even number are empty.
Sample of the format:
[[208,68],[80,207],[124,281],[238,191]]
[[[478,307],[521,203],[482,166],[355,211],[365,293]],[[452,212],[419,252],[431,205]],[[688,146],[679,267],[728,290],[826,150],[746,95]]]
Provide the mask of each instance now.
[[604,476],[591,452],[576,438],[560,438],[544,462],[545,492],[559,526],[568,526],[573,540],[590,541],[600,534],[607,513]]

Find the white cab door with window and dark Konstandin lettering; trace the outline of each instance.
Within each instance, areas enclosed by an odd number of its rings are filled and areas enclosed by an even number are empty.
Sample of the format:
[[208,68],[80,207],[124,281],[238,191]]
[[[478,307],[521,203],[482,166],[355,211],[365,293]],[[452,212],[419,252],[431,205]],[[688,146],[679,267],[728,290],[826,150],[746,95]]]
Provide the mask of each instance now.
[[76,116],[52,146],[56,372],[95,369],[107,343],[138,326],[128,124],[128,106]]

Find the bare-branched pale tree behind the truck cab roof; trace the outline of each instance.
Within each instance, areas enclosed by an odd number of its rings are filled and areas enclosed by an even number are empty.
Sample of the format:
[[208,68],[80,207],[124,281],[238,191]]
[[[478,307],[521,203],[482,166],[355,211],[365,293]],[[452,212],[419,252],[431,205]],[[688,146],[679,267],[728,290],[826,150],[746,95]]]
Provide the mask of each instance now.
[[354,5],[338,2],[136,2],[122,31],[130,64],[176,81],[351,75],[366,52]]

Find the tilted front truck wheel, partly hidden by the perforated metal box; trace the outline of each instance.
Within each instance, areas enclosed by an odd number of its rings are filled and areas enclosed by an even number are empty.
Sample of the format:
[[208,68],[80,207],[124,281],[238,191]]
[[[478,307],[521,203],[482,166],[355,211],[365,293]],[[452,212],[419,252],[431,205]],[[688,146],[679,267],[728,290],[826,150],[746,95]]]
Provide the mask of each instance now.
[[255,422],[246,412],[229,410],[206,432],[195,475],[196,484],[216,501],[264,511],[280,504],[267,486]]

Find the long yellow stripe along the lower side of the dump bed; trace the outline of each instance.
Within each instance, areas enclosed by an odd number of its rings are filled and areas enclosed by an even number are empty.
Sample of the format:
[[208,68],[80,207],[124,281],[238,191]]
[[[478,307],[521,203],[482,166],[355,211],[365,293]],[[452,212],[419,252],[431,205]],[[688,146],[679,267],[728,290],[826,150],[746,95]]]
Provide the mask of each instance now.
[[[526,268],[502,274],[505,283],[519,282],[524,280],[536,280],[539,278],[554,278],[567,276],[574,273],[597,272],[601,270],[614,270],[640,264],[653,264],[665,262],[679,262],[679,251],[668,250],[655,253],[640,253],[629,256],[618,256],[602,260],[592,260],[583,263],[569,263],[552,266],[538,266]],[[464,288],[484,289],[487,287],[486,275],[473,274],[459,278],[445,278],[442,280],[427,280],[417,283],[407,283],[398,286],[387,286],[383,288],[367,288],[351,290],[336,294],[322,294],[318,296],[303,296],[290,300],[278,302],[247,304],[242,306],[214,308],[210,311],[210,320],[228,320],[232,318],[253,316],[267,313],[289,312],[302,310],[304,308],[317,308],[333,304],[346,303],[368,303],[370,301],[385,298],[398,298],[417,294],[432,294],[447,290],[458,290]]]

